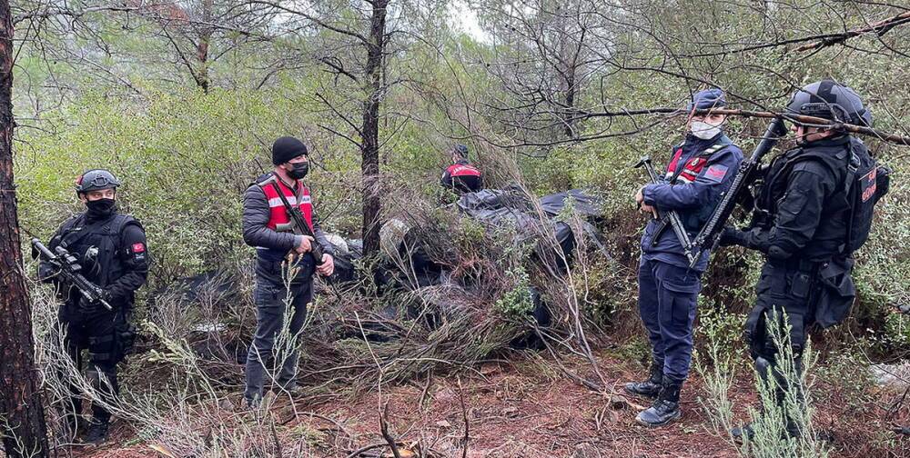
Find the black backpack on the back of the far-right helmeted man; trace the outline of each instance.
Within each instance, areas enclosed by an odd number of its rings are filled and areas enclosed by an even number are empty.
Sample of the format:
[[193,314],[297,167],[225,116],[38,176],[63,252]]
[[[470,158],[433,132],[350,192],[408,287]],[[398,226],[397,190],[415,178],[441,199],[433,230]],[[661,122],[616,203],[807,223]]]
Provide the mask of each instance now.
[[847,166],[845,191],[850,204],[844,251],[858,250],[872,232],[875,204],[888,193],[891,169],[878,164],[862,141],[851,138],[850,164]]

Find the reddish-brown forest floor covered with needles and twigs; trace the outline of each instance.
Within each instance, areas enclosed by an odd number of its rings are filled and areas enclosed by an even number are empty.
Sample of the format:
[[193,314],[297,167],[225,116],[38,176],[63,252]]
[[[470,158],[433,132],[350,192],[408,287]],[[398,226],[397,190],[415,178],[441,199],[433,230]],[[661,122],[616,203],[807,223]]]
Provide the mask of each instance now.
[[[641,376],[637,364],[622,362],[628,359],[607,351],[597,357],[604,378],[614,381],[617,393],[622,393],[622,383]],[[581,361],[570,364],[570,369],[585,373]],[[729,393],[737,422],[748,420],[746,408],[756,402],[751,376],[747,371],[741,373]],[[910,457],[910,436],[891,432],[893,423],[885,421],[886,406],[895,399],[894,393],[867,390],[872,402],[854,403],[844,397],[849,394],[834,393],[833,386],[826,383],[817,390],[816,424],[834,434],[832,456]],[[278,420],[276,441],[288,447],[306,441],[312,456],[392,456],[380,433],[380,412],[385,404],[390,436],[399,442],[403,457],[421,447],[432,456],[737,456],[726,437],[714,432],[698,402],[703,395],[703,382],[693,373],[682,395],[682,421],[647,428],[635,422],[635,415],[647,402],[631,398],[629,403],[611,403],[610,396],[594,393],[562,375],[553,362],[531,356],[483,363],[460,376],[431,377],[332,402],[291,403],[279,397],[271,413]],[[893,422],[910,423],[906,414],[901,416]],[[155,451],[155,446],[154,441],[136,439],[136,433],[120,422],[109,443],[69,452],[86,458],[168,456],[167,451]]]

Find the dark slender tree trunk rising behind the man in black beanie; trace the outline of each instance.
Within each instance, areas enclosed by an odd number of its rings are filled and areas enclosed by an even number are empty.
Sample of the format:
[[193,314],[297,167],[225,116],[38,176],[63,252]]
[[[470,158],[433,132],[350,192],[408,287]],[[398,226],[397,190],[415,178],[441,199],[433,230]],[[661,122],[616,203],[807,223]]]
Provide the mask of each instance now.
[[363,254],[379,252],[379,101],[382,98],[382,55],[385,53],[386,6],[389,0],[373,0],[369,24],[366,75],[367,98],[363,102],[363,141],[360,170],[363,179]]

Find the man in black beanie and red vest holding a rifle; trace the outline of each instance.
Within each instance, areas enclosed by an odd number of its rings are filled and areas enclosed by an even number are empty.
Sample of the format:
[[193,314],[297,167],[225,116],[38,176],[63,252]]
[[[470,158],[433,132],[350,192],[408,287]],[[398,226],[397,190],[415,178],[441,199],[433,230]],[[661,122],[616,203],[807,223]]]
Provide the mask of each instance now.
[[[257,406],[262,398],[269,360],[275,362],[277,371],[270,374],[275,391],[296,390],[298,354],[294,348],[313,297],[313,275],[329,276],[335,269],[332,244],[319,228],[309,190],[300,181],[309,169],[307,146],[293,137],[278,138],[272,145],[272,164],[275,169],[260,176],[243,196],[243,240],[257,251],[257,324],[247,354],[244,391],[250,406]],[[316,235],[315,241],[297,228],[289,228],[293,224],[288,224],[292,219],[286,203],[300,209],[310,234]],[[310,254],[314,243],[321,245],[322,259]],[[288,305],[293,309],[288,326],[293,338],[281,348],[273,348]]]

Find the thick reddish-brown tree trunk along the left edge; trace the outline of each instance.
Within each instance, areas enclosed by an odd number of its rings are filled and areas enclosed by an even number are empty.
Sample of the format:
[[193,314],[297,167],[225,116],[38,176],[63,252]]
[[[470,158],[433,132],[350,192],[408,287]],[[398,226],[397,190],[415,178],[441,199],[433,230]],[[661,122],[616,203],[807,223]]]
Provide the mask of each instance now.
[[47,456],[32,312],[13,186],[13,21],[0,0],[0,435],[10,457]]

